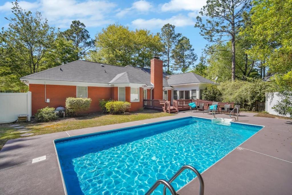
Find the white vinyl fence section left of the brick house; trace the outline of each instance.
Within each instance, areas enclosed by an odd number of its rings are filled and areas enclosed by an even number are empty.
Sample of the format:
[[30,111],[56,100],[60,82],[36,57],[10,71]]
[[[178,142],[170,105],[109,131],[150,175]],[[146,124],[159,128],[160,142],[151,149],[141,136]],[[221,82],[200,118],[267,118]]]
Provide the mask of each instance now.
[[0,123],[13,122],[18,115],[27,114],[28,121],[32,115],[32,92],[0,93]]

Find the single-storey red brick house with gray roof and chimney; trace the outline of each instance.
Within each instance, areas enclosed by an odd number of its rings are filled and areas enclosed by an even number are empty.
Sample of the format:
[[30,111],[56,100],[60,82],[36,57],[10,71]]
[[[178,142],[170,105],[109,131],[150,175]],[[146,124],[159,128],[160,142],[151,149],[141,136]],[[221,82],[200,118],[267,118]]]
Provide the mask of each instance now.
[[20,80],[32,92],[32,115],[46,106],[65,107],[67,97],[91,98],[89,113],[100,111],[99,99],[128,101],[137,111],[143,99],[197,99],[206,84],[214,84],[194,73],[168,75],[162,64],[159,58],[151,60],[151,69],[77,60]]

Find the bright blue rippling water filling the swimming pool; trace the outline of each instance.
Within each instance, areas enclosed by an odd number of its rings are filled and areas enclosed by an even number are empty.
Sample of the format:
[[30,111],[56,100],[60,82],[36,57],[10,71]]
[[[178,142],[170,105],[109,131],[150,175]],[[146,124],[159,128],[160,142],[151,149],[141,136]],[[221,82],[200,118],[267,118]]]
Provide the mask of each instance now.
[[[183,165],[203,172],[262,126],[187,117],[55,140],[68,194],[144,194]],[[195,175],[185,170],[178,190]],[[162,194],[162,187],[154,194]]]

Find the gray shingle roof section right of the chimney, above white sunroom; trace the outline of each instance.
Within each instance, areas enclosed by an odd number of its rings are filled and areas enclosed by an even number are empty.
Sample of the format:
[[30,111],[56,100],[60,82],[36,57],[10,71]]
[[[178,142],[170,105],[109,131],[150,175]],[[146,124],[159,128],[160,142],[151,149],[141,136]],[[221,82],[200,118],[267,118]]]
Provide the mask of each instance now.
[[206,79],[195,73],[182,73],[176,75],[169,75],[167,80],[169,85],[187,84],[187,83],[210,83],[215,84],[213,81]]

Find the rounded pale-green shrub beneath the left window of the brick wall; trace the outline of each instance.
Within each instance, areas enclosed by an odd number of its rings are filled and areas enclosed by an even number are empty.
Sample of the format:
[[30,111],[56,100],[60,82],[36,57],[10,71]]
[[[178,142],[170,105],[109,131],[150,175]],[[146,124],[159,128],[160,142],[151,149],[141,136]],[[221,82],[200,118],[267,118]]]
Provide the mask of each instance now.
[[77,112],[86,111],[89,109],[91,104],[90,98],[66,98],[66,109],[67,114],[74,116]]

